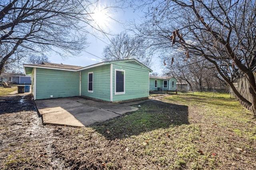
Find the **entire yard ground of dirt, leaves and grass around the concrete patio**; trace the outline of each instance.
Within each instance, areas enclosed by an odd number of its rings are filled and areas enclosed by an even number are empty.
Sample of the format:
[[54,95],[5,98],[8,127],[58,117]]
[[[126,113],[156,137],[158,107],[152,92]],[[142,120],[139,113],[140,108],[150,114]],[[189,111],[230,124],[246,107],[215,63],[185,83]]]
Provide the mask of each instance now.
[[152,100],[75,128],[42,125],[29,96],[0,97],[0,169],[256,169],[255,120],[236,101],[220,101],[236,118],[213,111],[219,100]]

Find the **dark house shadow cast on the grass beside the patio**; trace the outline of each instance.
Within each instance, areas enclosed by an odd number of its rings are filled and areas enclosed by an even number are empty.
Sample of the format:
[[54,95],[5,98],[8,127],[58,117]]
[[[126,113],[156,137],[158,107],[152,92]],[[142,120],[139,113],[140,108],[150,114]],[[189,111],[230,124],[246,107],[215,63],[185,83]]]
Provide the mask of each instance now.
[[[108,140],[126,138],[158,128],[189,124],[188,107],[150,100],[139,104],[138,111],[90,125]],[[133,105],[138,107],[138,105]]]

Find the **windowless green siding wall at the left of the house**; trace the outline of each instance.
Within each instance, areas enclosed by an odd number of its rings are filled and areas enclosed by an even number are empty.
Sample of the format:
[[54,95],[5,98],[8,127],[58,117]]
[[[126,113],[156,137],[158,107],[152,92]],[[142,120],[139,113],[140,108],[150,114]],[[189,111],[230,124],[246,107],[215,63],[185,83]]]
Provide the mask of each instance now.
[[36,99],[79,96],[80,72],[36,69]]

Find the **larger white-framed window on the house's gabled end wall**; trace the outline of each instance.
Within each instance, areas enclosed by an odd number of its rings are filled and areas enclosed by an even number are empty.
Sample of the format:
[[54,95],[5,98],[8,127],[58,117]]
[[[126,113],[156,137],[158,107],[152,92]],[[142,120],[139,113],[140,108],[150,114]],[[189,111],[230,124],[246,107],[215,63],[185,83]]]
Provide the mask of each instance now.
[[115,94],[125,94],[125,71],[115,69]]

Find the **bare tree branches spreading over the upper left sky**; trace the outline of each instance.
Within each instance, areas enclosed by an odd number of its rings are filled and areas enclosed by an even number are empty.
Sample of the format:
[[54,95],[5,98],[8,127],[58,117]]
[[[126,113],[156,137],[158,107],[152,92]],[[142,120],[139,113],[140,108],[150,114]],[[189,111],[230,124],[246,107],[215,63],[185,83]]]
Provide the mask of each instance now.
[[80,53],[88,44],[85,27],[94,28],[90,10],[97,4],[97,0],[1,0],[0,73],[4,65],[28,55]]

